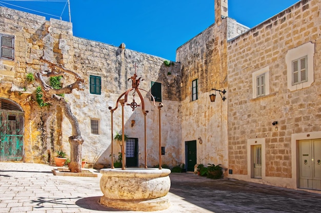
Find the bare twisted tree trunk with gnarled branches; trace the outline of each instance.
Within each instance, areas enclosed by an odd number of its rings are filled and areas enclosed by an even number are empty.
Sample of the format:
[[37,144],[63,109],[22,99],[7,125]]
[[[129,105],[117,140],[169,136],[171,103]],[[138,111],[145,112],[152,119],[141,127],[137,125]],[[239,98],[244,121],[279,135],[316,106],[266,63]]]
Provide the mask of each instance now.
[[[56,104],[62,107],[64,113],[69,120],[72,128],[72,136],[69,137],[70,143],[70,164],[69,169],[71,172],[82,172],[82,145],[84,139],[82,138],[81,131],[79,129],[78,120],[71,112],[70,105],[66,100],[58,96],[57,94],[62,93],[72,93],[73,89],[84,90],[83,83],[84,80],[75,72],[63,67],[62,65],[54,64],[45,59],[41,59],[42,62],[48,64],[50,70],[45,72],[39,72],[35,74],[35,79],[40,83],[43,91],[43,100],[49,104]],[[55,89],[48,85],[44,77],[56,77],[56,76],[66,76],[71,75],[75,78],[75,82],[64,86],[61,89]]]

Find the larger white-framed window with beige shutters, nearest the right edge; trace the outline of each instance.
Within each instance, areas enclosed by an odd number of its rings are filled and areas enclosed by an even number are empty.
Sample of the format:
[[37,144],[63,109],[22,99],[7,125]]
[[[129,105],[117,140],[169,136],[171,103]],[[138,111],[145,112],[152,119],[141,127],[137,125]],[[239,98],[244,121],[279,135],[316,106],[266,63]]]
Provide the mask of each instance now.
[[308,42],[289,50],[285,56],[288,89],[306,88],[314,82],[314,43]]

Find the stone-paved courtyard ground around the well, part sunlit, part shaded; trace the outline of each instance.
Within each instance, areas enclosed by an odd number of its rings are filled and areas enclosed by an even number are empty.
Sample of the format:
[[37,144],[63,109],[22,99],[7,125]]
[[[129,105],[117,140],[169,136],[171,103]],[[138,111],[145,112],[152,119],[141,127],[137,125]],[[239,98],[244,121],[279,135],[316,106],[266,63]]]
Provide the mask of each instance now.
[[[0,162],[0,212],[135,212],[99,205],[98,177],[54,176],[44,164]],[[167,212],[321,212],[321,194],[191,173],[170,175]]]

